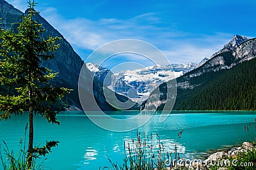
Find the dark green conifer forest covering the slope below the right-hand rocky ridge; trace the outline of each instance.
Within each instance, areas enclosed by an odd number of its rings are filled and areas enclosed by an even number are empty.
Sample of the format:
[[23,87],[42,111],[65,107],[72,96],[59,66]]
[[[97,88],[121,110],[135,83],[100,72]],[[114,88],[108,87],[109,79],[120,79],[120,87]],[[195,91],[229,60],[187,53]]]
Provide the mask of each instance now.
[[256,110],[256,59],[191,81],[203,84],[177,89],[174,110]]

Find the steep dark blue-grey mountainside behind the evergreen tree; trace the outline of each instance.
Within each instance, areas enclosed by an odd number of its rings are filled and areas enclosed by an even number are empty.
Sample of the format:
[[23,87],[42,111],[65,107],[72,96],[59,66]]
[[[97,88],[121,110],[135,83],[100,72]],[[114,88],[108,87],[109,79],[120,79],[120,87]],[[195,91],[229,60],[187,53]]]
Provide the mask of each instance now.
[[[1,20],[3,23],[1,27],[5,30],[15,30],[17,24],[13,23],[21,22],[21,16],[25,14],[3,0],[0,0],[0,8],[0,17],[3,18]],[[27,13],[27,11],[25,13]],[[54,27],[52,27],[44,18],[42,18],[39,14],[36,14],[34,19],[38,23],[43,24],[43,27],[45,27],[46,31],[42,34],[42,37],[48,38],[49,36],[58,36],[61,38],[61,40],[58,42],[60,43],[60,48],[55,53],[54,59],[42,62],[42,66],[51,69],[54,73],[59,73],[56,76],[58,85],[68,87],[68,89],[74,89],[74,91],[72,91],[68,97],[68,101],[70,104],[74,104],[75,106],[79,107],[80,104],[77,94],[77,82],[80,69],[83,66],[83,60],[81,60],[79,55],[74,52],[72,46],[60,34],[60,32],[54,29]]]

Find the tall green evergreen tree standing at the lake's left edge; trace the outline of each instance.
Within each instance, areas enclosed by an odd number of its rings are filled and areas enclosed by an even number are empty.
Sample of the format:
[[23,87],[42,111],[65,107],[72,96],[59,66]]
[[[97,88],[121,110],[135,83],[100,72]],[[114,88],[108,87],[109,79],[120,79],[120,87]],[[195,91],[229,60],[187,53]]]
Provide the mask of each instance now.
[[42,148],[33,147],[33,116],[42,115],[52,124],[60,124],[56,119],[58,111],[52,111],[50,104],[56,103],[69,90],[54,85],[56,73],[41,66],[43,60],[51,60],[59,48],[58,37],[42,38],[45,31],[42,24],[33,18],[38,12],[34,10],[35,2],[29,0],[29,11],[15,31],[0,30],[0,120],[8,119],[12,114],[29,112],[28,169],[35,154],[45,155],[58,142],[48,142]]

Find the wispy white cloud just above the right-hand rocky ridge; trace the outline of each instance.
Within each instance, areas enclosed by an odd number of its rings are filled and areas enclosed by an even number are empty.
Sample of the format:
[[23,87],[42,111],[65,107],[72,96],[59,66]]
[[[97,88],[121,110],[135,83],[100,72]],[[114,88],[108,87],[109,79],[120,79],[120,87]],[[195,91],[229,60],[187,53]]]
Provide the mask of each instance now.
[[200,62],[204,57],[211,57],[232,38],[232,34],[216,32],[213,35],[199,34],[175,41],[166,40],[172,47],[165,48],[164,54],[171,63]]

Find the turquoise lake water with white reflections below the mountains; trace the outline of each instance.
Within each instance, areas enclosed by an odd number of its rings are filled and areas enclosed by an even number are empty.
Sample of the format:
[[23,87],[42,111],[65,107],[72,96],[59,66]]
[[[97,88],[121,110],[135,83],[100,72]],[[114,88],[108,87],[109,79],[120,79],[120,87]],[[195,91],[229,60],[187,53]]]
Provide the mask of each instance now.
[[[156,133],[159,134],[166,150],[173,152],[177,145],[181,157],[186,159],[202,157],[212,150],[229,148],[237,143],[255,139],[255,112],[172,113],[162,123],[159,123],[159,115],[154,115],[147,124],[130,132],[111,132],[101,129],[81,112],[61,113],[58,115],[60,125],[47,124],[43,118],[36,116],[35,145],[44,145],[45,141],[50,140],[60,141],[59,146],[47,155],[44,169],[93,170],[99,169],[100,166],[110,166],[108,158],[113,162],[122,162],[124,141],[129,143],[132,138],[135,139],[137,130],[146,136],[152,133],[153,141],[157,139]],[[134,117],[134,114],[132,111],[119,111],[111,115],[129,118]],[[104,119],[99,116],[98,118]],[[13,116],[6,122],[0,121],[2,152],[3,140],[9,148],[17,152],[27,122],[26,114],[22,117]],[[244,131],[244,125],[248,126],[249,131]],[[177,134],[182,130],[184,132],[178,139]],[[157,147],[157,142],[153,143],[153,146]]]

